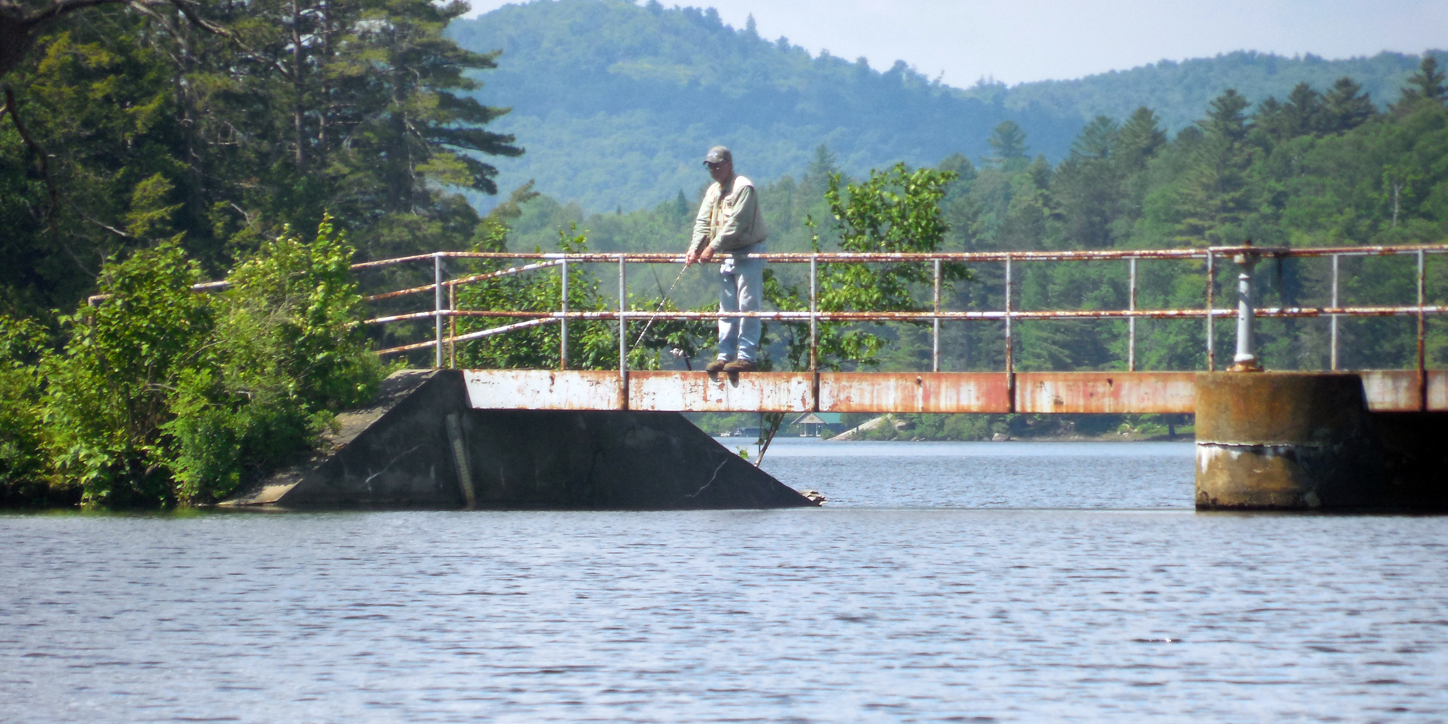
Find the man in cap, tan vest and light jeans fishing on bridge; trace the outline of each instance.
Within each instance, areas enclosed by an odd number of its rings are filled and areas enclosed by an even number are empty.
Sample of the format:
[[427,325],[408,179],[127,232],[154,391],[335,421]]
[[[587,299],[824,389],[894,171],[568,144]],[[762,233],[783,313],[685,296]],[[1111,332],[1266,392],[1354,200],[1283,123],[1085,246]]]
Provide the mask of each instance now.
[[[767,232],[754,182],[734,174],[734,155],[724,146],[711,148],[704,165],[710,167],[714,182],[699,204],[683,265],[707,262],[715,253],[727,255],[720,265],[720,311],[759,311],[765,295],[765,259],[747,255],[765,252]],[[718,358],[704,369],[759,369],[759,317],[721,317]]]

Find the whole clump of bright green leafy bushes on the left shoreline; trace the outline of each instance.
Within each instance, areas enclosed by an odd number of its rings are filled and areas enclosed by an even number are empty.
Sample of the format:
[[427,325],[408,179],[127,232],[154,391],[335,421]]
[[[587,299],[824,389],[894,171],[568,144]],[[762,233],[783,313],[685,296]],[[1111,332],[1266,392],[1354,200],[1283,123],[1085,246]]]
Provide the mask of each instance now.
[[[198,265],[175,240],[107,265],[104,297],[62,317],[64,352],[12,365],[43,375],[30,390],[43,381],[56,475],[94,504],[210,502],[314,445],[382,376],[358,324],[353,252],[324,220],[313,242],[264,245],[216,297],[193,291]],[[13,436],[26,430],[13,400],[35,394],[9,391]]]

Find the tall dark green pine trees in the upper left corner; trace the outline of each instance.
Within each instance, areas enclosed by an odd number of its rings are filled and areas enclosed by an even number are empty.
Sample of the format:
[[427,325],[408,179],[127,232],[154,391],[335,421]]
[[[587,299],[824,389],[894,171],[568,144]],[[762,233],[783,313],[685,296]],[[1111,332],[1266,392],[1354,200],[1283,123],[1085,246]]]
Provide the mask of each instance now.
[[107,259],[182,233],[217,277],[324,210],[362,256],[468,246],[458,190],[495,193],[485,159],[523,151],[475,97],[497,54],[443,36],[466,4],[190,7],[223,32],[171,6],[88,9],[6,77],[38,148],[0,125],[0,311],[70,308]]

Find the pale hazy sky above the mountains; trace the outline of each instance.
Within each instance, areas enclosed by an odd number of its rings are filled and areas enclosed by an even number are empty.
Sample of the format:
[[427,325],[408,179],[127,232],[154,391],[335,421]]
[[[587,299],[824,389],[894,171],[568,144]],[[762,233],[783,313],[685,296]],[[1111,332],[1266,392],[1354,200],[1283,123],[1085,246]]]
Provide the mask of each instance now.
[[[544,0],[546,1],[546,0]],[[699,0],[812,54],[896,59],[964,87],[1079,78],[1231,51],[1323,58],[1448,46],[1448,0]],[[473,14],[508,4],[472,0]]]

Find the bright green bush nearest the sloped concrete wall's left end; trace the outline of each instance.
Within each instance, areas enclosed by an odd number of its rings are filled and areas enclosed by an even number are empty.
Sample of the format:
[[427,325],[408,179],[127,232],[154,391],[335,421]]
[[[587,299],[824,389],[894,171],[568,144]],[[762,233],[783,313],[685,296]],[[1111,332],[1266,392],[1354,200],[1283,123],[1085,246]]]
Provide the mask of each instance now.
[[324,217],[314,242],[285,233],[227,278],[211,346],[182,375],[164,426],[180,501],[222,498],[285,463],[337,410],[376,392],[352,253]]

